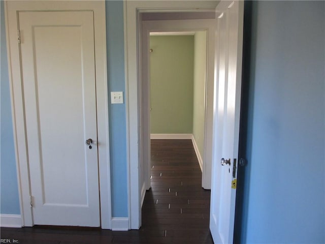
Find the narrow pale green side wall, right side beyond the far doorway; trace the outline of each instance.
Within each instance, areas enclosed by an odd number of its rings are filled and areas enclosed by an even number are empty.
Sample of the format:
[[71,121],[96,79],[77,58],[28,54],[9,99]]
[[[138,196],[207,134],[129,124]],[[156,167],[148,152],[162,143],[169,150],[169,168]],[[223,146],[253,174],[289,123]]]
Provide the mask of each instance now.
[[206,50],[206,31],[196,32],[194,36],[193,136],[201,157],[204,155]]

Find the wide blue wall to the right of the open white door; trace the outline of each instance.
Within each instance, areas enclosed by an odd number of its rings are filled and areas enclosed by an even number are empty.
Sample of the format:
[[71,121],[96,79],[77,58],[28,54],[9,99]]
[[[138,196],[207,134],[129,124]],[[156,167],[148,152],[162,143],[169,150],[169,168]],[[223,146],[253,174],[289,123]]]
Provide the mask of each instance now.
[[324,2],[253,2],[242,243],[324,243]]

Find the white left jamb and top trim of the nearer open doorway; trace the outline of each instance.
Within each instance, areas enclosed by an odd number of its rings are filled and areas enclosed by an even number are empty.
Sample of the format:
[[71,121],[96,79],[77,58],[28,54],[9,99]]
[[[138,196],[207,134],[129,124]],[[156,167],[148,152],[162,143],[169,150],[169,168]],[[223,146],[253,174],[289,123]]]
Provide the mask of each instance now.
[[126,1],[124,2],[124,45],[126,83],[127,179],[129,229],[141,226],[140,182],[140,12],[202,12],[214,10],[219,1]]

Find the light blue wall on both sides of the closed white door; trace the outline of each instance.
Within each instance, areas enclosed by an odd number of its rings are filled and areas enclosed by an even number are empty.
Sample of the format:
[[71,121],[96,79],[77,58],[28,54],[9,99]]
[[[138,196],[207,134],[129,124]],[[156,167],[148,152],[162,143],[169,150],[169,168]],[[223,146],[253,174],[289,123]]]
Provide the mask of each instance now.
[[[4,2],[1,3],[1,214],[19,214],[16,162],[5,39]],[[109,92],[122,91],[125,101],[123,2],[106,2]],[[110,97],[109,97],[110,101]],[[125,103],[109,104],[112,216],[127,217]]]

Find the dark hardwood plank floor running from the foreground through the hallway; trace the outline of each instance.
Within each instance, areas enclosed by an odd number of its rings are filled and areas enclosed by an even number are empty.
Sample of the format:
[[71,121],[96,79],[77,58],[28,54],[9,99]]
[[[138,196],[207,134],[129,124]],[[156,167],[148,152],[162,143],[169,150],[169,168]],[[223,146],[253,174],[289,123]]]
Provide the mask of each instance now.
[[210,191],[201,188],[202,174],[191,140],[151,140],[151,175],[140,230],[1,228],[1,238],[23,244],[213,243]]

